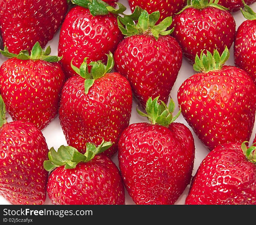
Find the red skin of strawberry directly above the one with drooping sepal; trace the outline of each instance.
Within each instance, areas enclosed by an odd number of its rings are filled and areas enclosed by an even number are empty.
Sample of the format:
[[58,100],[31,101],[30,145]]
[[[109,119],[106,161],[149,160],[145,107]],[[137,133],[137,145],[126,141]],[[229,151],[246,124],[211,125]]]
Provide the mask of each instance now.
[[72,8],[61,26],[58,44],[58,55],[63,56],[61,65],[66,77],[76,75],[70,65],[72,59],[77,67],[85,57],[88,57],[88,64],[98,60],[104,63],[106,54],[114,52],[121,39],[123,35],[113,14],[93,17],[86,8]]

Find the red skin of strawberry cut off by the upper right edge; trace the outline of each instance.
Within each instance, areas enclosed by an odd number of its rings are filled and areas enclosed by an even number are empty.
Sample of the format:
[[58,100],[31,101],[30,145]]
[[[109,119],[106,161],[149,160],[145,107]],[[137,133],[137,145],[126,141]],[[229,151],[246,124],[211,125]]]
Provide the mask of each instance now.
[[256,21],[246,20],[237,29],[234,40],[235,65],[253,78],[256,84]]

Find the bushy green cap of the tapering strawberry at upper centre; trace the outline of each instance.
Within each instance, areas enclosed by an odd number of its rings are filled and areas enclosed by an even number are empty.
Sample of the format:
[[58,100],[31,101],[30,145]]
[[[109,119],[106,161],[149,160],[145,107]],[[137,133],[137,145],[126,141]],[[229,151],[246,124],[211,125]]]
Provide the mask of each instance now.
[[146,10],[138,8],[138,11],[134,14],[124,17],[118,16],[117,21],[122,34],[127,37],[138,34],[151,34],[158,39],[159,35],[169,35],[174,30],[174,28],[167,30],[173,22],[172,17],[166,17],[156,25],[159,18],[159,11],[149,14]]

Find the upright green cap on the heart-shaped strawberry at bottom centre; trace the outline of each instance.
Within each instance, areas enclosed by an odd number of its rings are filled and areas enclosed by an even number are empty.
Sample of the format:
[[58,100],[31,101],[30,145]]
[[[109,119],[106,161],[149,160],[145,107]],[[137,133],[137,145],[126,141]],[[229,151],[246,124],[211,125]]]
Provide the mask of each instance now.
[[181,108],[179,108],[177,115],[173,117],[173,112],[175,109],[175,103],[173,99],[170,99],[170,103],[167,107],[163,101],[158,100],[159,97],[160,96],[153,100],[152,97],[150,97],[147,100],[146,113],[141,112],[138,110],[138,108],[136,110],[139,115],[147,117],[151,124],[159,124],[168,127],[173,121],[175,121],[175,119],[177,119],[177,117],[179,117]]

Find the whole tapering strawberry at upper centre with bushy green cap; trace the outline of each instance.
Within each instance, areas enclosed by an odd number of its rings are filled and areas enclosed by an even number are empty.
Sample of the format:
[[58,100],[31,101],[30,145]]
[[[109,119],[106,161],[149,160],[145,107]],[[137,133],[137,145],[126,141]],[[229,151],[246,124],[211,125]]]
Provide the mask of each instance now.
[[120,30],[127,37],[114,52],[115,70],[127,77],[143,109],[150,97],[160,96],[167,103],[182,64],[182,50],[169,35],[172,30],[166,31],[172,17],[155,25],[159,16],[159,11],[148,14],[143,10],[138,23],[118,17]]

